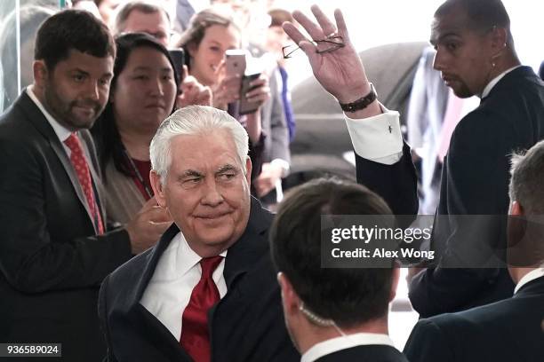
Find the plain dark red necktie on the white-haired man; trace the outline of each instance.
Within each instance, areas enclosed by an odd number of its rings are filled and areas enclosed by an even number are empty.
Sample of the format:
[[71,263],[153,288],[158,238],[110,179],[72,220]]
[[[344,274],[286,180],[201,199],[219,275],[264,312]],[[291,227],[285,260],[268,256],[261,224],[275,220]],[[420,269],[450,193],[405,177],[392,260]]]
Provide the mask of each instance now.
[[180,344],[196,362],[209,362],[211,358],[208,311],[220,300],[212,274],[221,260],[223,256],[206,257],[200,261],[202,276],[193,288],[181,318]]

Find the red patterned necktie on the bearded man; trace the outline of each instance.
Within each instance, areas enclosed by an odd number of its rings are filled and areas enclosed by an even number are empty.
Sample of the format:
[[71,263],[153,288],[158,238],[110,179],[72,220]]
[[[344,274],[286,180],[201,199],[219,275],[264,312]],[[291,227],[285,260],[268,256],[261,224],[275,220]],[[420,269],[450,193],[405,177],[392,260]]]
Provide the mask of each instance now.
[[94,201],[91,172],[89,171],[89,165],[85,160],[81,142],[79,141],[79,138],[77,138],[76,133],[72,133],[70,134],[70,137],[64,141],[64,144],[68,146],[71,151],[70,161],[76,170],[77,179],[79,180],[79,185],[81,185],[81,188],[83,189],[85,199],[87,199],[87,205],[89,205],[89,209],[91,210],[92,221],[96,225],[98,234],[103,234],[104,224],[102,224],[102,217],[100,216],[98,205],[96,201]]

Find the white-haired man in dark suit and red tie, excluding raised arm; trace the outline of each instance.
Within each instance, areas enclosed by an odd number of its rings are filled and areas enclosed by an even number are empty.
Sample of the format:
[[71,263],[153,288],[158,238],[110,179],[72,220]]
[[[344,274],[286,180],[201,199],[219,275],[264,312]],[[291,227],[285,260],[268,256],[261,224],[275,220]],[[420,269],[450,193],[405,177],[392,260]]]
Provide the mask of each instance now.
[[156,248],[104,280],[109,361],[295,361],[268,251],[272,215],[250,196],[244,127],[188,106],[151,142],[151,183],[174,220]]

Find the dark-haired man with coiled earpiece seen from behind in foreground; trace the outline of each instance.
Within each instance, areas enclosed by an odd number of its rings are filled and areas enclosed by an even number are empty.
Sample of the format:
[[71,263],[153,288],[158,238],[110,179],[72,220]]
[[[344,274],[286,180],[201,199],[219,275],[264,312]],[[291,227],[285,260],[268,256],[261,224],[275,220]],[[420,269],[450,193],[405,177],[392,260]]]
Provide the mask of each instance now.
[[331,215],[391,210],[362,185],[327,179],[300,185],[280,204],[270,245],[301,360],[407,362],[388,336],[399,269],[392,259],[382,268],[323,268],[323,217]]

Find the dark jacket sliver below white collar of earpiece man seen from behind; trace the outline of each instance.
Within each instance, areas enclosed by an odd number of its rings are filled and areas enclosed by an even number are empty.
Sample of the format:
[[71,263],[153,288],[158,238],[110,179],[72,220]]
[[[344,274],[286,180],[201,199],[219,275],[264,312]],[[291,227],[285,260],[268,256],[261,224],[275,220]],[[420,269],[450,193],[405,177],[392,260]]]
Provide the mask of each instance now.
[[404,355],[395,348],[380,344],[356,346],[348,348],[347,350],[339,350],[316,359],[316,362],[337,361],[408,362]]

